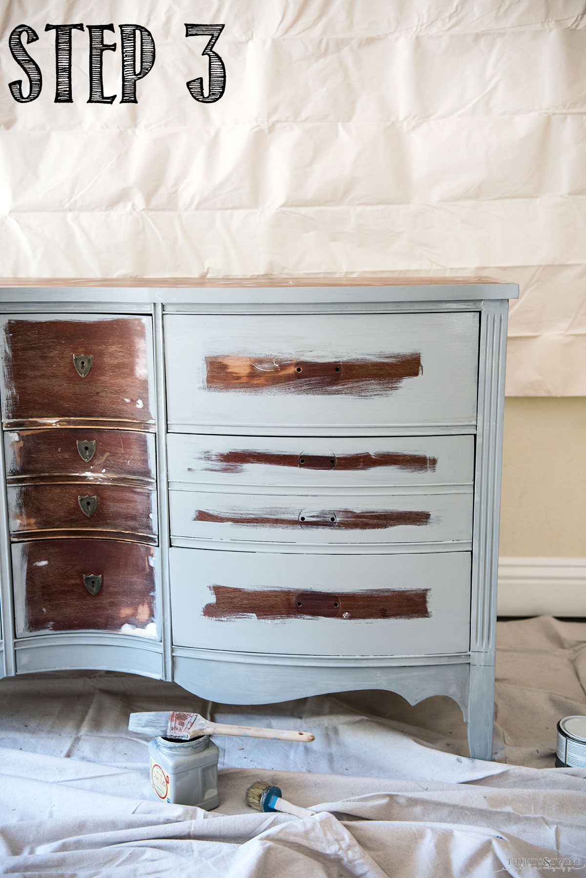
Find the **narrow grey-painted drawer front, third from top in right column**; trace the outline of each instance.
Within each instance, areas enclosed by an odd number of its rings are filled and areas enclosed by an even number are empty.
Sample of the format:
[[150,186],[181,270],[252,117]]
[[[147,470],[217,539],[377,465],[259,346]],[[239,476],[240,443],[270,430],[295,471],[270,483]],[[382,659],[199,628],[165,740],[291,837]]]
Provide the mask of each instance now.
[[467,493],[293,496],[170,491],[173,537],[297,545],[472,539]]

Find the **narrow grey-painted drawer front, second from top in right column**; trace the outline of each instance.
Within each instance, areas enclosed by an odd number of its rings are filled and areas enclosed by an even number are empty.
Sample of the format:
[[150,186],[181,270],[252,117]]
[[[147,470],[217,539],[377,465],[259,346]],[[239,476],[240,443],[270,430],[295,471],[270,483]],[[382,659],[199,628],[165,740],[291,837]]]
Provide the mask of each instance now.
[[467,485],[474,436],[328,439],[302,436],[167,437],[169,479],[227,490]]

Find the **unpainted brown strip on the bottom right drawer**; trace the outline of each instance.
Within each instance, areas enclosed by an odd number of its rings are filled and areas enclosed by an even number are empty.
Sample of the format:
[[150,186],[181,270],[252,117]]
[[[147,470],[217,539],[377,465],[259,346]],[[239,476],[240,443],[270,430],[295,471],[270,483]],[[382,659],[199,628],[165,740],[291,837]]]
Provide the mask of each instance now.
[[209,586],[214,601],[202,615],[208,619],[242,619],[254,615],[264,621],[329,617],[334,619],[427,619],[429,588],[372,589],[360,592],[293,591]]

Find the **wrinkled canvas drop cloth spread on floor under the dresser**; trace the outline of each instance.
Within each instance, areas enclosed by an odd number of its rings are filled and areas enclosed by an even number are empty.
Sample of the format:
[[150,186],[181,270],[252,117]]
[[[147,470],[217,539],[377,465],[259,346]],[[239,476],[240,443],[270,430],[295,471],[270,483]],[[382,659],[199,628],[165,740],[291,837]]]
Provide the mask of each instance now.
[[[586,874],[586,769],[553,768],[557,720],[586,714],[586,624],[498,629],[496,762],[467,758],[459,708],[444,697],[247,708],[121,673],[3,680],[2,874],[525,878],[562,857]],[[311,730],[315,743],[215,738],[220,808],[150,802],[148,742],[127,731],[128,714],[174,708]],[[319,814],[250,810],[244,791],[257,779]]]

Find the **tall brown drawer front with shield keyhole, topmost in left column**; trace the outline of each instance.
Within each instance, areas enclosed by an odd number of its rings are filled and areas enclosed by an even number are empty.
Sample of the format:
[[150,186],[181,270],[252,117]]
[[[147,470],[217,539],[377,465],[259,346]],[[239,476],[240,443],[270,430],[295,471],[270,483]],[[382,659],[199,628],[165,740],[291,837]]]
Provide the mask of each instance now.
[[150,318],[19,315],[0,323],[6,426],[65,418],[154,425]]

